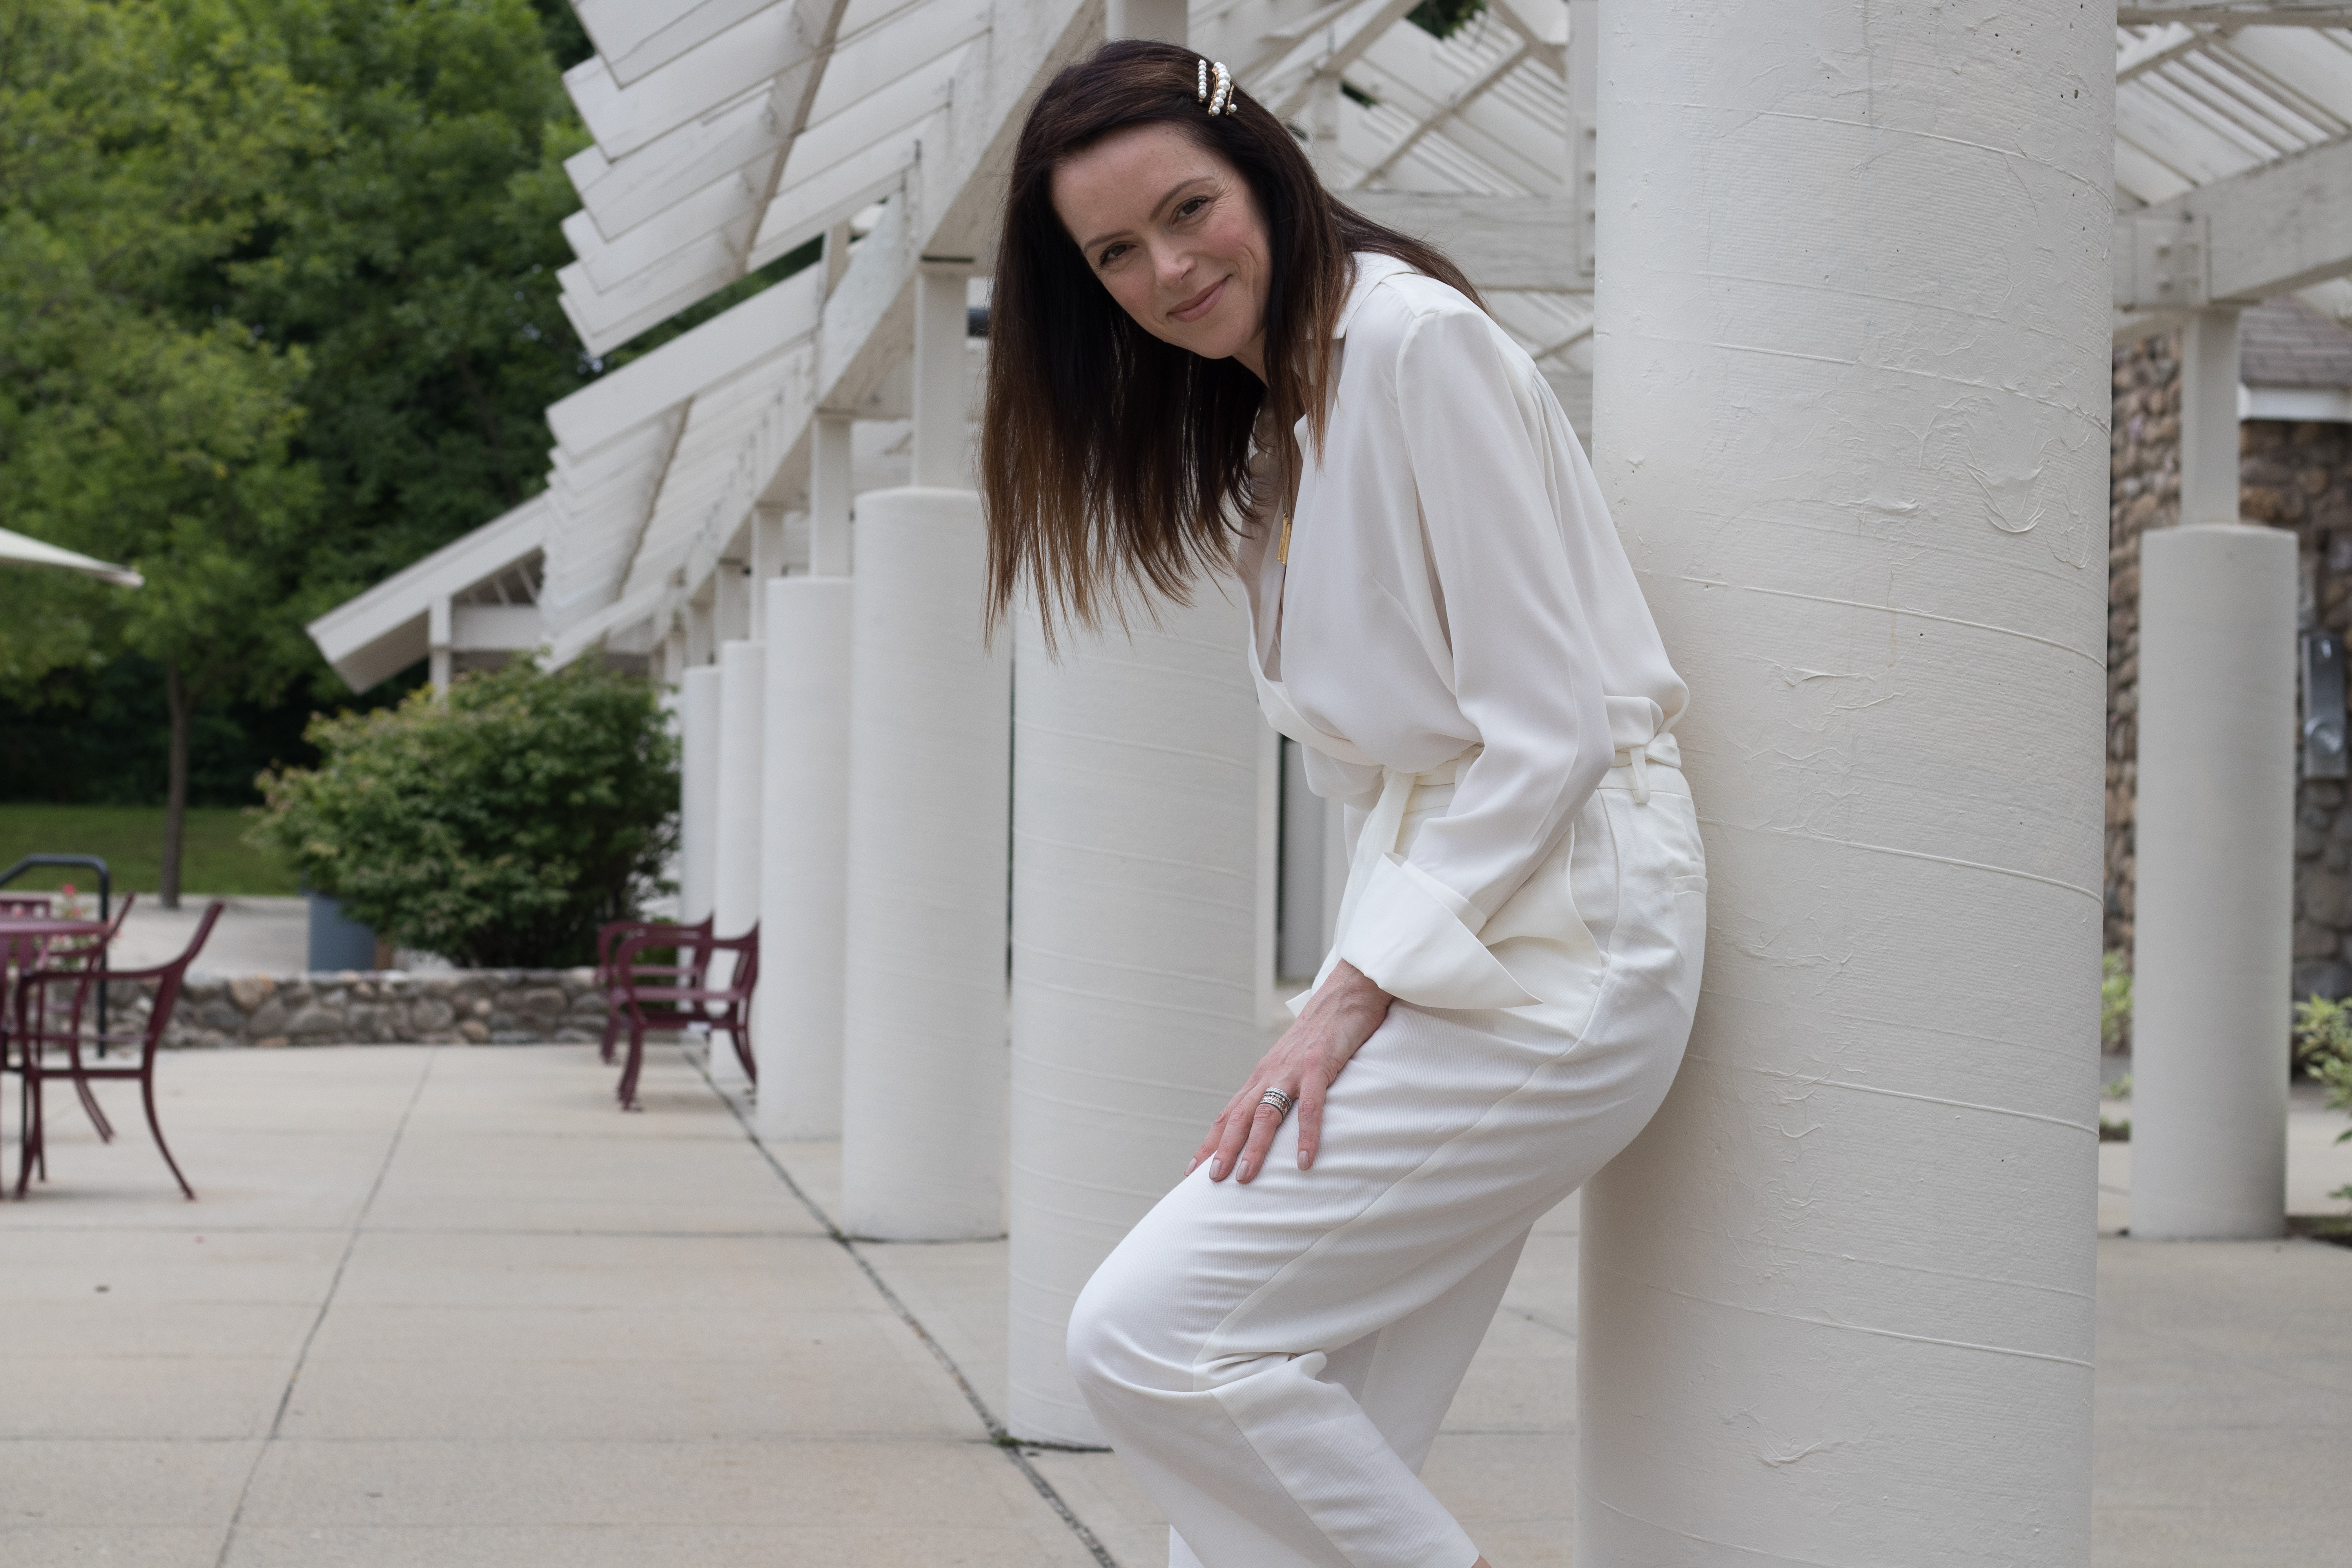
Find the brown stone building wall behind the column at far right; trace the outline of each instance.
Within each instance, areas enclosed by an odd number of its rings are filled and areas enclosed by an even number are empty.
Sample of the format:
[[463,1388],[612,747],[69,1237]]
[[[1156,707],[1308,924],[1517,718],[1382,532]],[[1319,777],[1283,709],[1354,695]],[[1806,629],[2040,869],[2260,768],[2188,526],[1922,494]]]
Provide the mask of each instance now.
[[[2178,339],[2114,353],[2107,543],[2107,947],[2131,957],[2138,788],[2140,534],[2180,517]],[[2352,425],[2249,418],[2239,425],[2239,512],[2291,529],[2303,602],[2352,632]],[[2352,811],[2333,780],[2296,785],[2296,994],[2352,994]]]

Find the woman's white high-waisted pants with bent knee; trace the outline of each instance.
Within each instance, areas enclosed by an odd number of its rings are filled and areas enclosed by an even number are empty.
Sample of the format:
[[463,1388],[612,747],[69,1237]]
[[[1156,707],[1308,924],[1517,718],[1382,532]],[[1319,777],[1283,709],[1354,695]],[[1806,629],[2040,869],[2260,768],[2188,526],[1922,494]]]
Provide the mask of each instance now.
[[1421,1462],[1529,1225],[1632,1143],[1682,1063],[1705,943],[1682,773],[1621,752],[1543,877],[1573,893],[1590,985],[1392,1004],[1331,1084],[1312,1171],[1284,1121],[1254,1182],[1192,1171],[1080,1293],[1070,1371],[1169,1516],[1171,1568],[1477,1561]]

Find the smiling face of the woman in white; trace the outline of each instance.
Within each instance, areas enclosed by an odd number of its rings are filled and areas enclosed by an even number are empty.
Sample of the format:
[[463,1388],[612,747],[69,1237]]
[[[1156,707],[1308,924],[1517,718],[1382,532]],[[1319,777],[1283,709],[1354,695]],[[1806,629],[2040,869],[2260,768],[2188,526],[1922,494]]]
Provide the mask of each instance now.
[[1242,172],[1167,122],[1054,169],[1054,212],[1143,331],[1265,378],[1265,219]]

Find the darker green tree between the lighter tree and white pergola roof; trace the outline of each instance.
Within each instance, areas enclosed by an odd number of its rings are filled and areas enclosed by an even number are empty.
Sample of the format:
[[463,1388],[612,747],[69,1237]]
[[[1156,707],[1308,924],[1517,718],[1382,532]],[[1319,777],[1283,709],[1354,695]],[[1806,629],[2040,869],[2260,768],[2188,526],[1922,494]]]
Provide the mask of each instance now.
[[329,136],[292,172],[238,320],[308,355],[294,449],[315,463],[336,597],[546,484],[546,404],[597,374],[557,301],[588,141],[527,0],[256,0]]

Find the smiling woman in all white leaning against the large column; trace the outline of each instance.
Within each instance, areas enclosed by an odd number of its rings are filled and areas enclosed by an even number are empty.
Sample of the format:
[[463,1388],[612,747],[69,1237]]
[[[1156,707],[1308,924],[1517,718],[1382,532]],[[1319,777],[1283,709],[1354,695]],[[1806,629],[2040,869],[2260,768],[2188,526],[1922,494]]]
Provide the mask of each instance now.
[[1592,470],[1444,256],[1152,42],[1021,134],[981,468],[997,614],[1237,574],[1355,839],[1298,1023],[1080,1295],[1070,1371],[1178,1568],[1484,1563],[1416,1472],[1529,1225],[1665,1095],[1705,929],[1686,693]]

